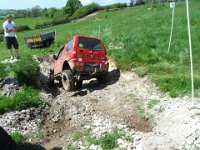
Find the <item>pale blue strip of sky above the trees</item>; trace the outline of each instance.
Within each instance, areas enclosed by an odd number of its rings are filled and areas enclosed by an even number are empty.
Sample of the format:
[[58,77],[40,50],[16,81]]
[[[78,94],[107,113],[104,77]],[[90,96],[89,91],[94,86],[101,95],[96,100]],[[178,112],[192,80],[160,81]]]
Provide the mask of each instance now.
[[[100,5],[109,5],[113,3],[124,3],[128,0],[80,0],[83,5],[92,2]],[[65,6],[67,0],[0,0],[0,9],[26,9],[39,5],[42,8],[56,7],[61,8]]]

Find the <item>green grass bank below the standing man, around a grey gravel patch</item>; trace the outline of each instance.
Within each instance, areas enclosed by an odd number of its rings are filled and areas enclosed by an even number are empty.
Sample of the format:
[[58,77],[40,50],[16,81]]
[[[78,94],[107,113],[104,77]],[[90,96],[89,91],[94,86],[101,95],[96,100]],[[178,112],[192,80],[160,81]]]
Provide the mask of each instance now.
[[23,90],[12,97],[0,97],[0,114],[12,110],[40,107],[45,104],[38,89],[38,64],[26,56],[14,64],[0,63],[0,78],[16,78]]

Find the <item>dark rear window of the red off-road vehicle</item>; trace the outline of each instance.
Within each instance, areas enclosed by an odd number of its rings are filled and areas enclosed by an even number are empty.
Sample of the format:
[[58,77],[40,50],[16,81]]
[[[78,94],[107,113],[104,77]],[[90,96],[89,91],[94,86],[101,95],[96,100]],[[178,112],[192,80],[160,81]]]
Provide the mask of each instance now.
[[102,45],[100,40],[85,38],[85,37],[78,38],[78,47],[89,50],[98,50],[98,51],[102,50]]

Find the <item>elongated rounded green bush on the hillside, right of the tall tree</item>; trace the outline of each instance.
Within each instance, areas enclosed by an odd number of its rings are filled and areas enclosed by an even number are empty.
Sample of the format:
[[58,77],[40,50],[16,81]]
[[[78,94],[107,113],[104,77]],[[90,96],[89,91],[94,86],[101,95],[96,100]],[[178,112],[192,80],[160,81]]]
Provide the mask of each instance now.
[[87,5],[87,6],[83,6],[74,12],[74,14],[70,18],[70,20],[82,18],[84,16],[87,16],[87,15],[89,15],[95,11],[101,10],[101,9],[102,9],[102,7],[95,3]]

